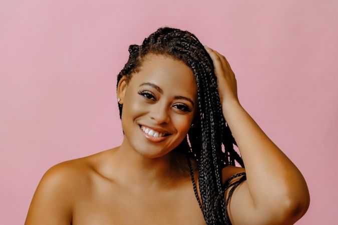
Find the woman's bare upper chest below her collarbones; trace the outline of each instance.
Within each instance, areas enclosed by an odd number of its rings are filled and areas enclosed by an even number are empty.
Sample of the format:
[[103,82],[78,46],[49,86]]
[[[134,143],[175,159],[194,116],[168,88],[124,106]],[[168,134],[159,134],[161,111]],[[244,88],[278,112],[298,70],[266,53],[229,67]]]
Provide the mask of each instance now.
[[78,224],[205,224],[192,183],[168,190],[131,190],[97,182],[73,208]]

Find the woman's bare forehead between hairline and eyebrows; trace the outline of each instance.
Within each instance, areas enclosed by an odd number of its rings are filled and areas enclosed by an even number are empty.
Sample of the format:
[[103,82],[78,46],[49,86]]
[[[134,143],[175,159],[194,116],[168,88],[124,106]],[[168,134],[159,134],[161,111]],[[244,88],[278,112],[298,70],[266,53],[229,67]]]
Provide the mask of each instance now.
[[133,75],[132,82],[139,85],[152,82],[163,91],[177,91],[189,94],[197,93],[194,74],[183,61],[166,55],[147,54],[140,66],[139,72]]

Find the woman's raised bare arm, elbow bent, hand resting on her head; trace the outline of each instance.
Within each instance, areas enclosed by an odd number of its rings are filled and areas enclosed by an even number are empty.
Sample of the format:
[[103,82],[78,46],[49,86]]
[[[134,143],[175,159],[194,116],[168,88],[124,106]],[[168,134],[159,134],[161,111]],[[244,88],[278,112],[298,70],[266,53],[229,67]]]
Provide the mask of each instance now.
[[[226,58],[206,47],[211,56],[223,115],[234,136],[246,180],[232,194],[229,216],[233,224],[293,224],[309,206],[304,177],[240,105],[237,83]],[[226,169],[227,167],[225,167]]]

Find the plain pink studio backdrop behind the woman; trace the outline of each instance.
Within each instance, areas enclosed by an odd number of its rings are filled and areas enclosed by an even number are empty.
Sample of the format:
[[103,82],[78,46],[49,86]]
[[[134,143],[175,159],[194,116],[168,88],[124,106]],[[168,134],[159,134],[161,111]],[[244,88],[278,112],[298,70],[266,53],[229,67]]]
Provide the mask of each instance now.
[[24,223],[49,167],[121,143],[116,76],[164,25],[229,60],[241,104],[307,181],[296,224],[337,224],[338,1],[206,2],[0,1],[0,224]]

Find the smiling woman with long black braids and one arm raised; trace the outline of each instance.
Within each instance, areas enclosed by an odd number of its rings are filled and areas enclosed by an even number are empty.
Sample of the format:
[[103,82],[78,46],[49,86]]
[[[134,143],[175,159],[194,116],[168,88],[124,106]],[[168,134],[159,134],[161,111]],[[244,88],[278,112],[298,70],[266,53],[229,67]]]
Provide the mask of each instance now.
[[129,52],[122,144],[51,167],[25,224],[293,224],[306,212],[304,177],[240,105],[223,55],[170,27]]

